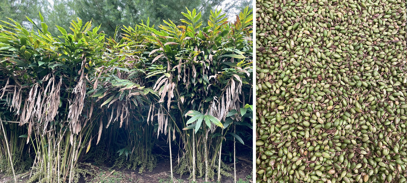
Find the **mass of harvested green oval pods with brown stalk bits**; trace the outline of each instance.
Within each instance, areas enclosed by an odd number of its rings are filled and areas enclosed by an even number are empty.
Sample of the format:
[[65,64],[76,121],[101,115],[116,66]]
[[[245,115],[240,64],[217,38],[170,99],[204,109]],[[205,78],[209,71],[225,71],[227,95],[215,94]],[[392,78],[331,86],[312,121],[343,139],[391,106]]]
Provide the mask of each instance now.
[[405,1],[256,7],[256,182],[405,183]]

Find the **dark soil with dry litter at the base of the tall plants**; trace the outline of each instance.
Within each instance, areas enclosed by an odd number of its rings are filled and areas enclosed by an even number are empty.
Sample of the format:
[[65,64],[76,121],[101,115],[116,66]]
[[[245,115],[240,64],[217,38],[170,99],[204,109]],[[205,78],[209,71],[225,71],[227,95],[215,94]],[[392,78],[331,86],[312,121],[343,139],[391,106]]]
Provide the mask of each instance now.
[[[246,151],[247,152],[247,151]],[[244,152],[242,152],[244,153]],[[222,155],[223,156],[223,155]],[[175,157],[173,155],[173,157]],[[238,160],[241,159],[243,161]],[[236,183],[252,183],[252,163],[249,163],[252,159],[251,153],[236,154]],[[221,175],[221,183],[233,183],[233,162],[228,163],[228,166],[232,168],[228,173],[232,174],[232,177]],[[173,160],[173,166],[177,164],[177,160]],[[77,179],[77,183],[171,183],[171,168],[170,159],[168,156],[162,155],[158,158],[157,166],[149,172],[144,171],[139,173],[138,169],[130,170],[128,168],[111,168],[112,165],[95,165],[94,162],[86,162],[79,164],[80,177]],[[83,175],[83,170],[88,172]],[[91,172],[91,173],[89,173]],[[25,183],[28,181],[30,172],[25,172],[16,175],[19,183]],[[173,173],[173,183],[193,183],[190,174],[180,175]],[[0,172],[0,183],[13,183],[12,176],[5,176]],[[66,181],[68,182],[68,181]],[[217,172],[215,172],[214,180],[204,181],[204,177],[197,177],[195,183],[216,183]]]

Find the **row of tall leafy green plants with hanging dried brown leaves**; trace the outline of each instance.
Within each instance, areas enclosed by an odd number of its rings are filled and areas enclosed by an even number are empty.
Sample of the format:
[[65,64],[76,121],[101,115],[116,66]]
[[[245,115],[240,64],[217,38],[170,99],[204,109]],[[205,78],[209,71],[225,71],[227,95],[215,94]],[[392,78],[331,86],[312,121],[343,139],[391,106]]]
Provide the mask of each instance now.
[[182,14],[182,24],[147,20],[113,38],[80,19],[58,37],[43,18],[27,17],[34,30],[4,21],[1,172],[47,183],[78,181],[86,161],[143,172],[162,141],[178,155],[171,177],[227,175],[222,153],[252,142],[252,10],[234,23],[211,12],[207,27],[195,9]]

